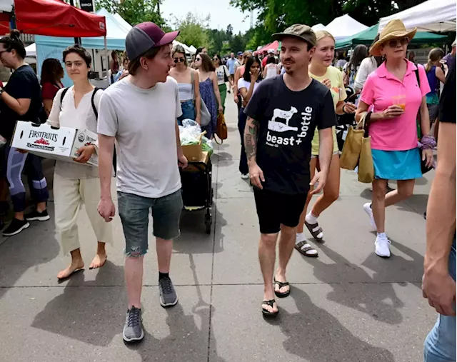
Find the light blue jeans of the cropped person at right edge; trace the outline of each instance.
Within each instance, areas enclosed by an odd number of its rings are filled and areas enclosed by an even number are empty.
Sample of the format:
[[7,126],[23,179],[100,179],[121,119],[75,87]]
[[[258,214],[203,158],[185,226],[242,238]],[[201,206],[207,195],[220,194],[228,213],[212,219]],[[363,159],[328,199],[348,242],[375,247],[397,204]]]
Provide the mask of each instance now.
[[[449,274],[457,280],[457,236],[449,255]],[[457,309],[455,305],[454,309]],[[438,321],[428,333],[424,344],[423,361],[457,361],[457,317],[438,315]]]

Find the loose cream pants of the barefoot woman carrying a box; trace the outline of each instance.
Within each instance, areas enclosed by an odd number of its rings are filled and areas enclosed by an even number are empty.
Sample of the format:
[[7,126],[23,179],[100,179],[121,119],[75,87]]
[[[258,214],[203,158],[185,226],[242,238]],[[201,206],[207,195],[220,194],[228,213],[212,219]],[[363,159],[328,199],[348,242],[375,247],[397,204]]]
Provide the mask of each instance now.
[[97,211],[99,201],[100,179],[67,180],[54,174],[56,234],[64,255],[80,247],[77,221],[83,203],[97,240],[113,243],[111,224],[106,223]]

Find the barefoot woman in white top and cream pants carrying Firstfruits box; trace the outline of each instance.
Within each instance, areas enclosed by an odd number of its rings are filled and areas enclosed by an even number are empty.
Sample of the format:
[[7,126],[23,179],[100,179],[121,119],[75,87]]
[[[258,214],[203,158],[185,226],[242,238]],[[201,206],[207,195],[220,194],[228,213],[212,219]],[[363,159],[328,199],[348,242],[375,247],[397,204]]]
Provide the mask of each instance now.
[[[74,129],[97,131],[97,106],[101,91],[89,82],[92,58],[81,46],[74,45],[64,51],[66,72],[74,86],[60,89],[49,114],[51,126],[65,126]],[[78,150],[75,164],[56,161],[54,172],[54,205],[56,211],[56,232],[62,252],[71,254],[71,264],[60,271],[57,278],[69,278],[72,273],[84,268],[79,250],[77,219],[84,203],[92,228],[98,240],[97,251],[89,269],[100,268],[106,261],[105,243],[112,243],[111,224],[99,216],[97,206],[100,199],[98,167],[84,165],[96,152],[96,144],[83,146]]]

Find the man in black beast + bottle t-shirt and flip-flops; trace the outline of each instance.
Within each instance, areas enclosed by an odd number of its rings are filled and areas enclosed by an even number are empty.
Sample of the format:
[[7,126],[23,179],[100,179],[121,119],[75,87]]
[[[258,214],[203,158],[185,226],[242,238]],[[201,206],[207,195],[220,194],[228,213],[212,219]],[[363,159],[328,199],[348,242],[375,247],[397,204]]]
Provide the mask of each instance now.
[[[309,26],[296,24],[283,33],[281,63],[286,74],[267,79],[246,106],[248,115],[244,144],[248,156],[249,178],[254,188],[261,241],[259,259],[265,283],[262,312],[276,316],[274,294],[288,296],[286,266],[296,241],[296,226],[306,202],[310,184],[313,193],[322,190],[330,165],[336,125],[330,91],[308,76],[308,64],[316,46],[316,34]],[[321,171],[310,183],[311,140],[319,129]],[[274,276],[276,241],[279,264]]]

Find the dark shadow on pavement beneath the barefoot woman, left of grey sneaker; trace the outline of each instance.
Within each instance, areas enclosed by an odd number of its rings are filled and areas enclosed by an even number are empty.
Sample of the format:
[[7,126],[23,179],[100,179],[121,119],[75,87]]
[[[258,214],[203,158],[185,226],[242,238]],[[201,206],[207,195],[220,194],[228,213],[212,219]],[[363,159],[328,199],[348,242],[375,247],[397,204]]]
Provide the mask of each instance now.
[[[124,278],[124,267],[107,260],[96,275],[95,285],[104,275],[116,280]],[[94,282],[84,283],[84,273],[74,274],[64,293],[49,301],[31,326],[84,343],[108,346],[123,327],[116,311],[126,308],[125,289],[93,285]]]

